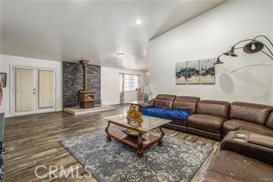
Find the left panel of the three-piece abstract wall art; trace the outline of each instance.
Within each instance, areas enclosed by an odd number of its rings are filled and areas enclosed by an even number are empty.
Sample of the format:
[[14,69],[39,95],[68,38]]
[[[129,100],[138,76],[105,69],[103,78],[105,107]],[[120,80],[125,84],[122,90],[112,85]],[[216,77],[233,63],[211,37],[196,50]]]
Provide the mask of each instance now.
[[187,63],[176,63],[176,85],[187,84]]

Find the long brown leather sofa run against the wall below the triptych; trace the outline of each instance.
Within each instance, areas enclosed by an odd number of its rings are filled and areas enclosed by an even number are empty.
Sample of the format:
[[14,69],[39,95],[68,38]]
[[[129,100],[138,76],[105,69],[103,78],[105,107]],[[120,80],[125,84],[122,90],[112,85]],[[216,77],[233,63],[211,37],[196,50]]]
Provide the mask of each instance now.
[[247,102],[200,100],[200,97],[157,95],[145,107],[191,109],[187,120],[173,120],[164,127],[222,140],[230,131],[245,129],[273,136],[273,107]]

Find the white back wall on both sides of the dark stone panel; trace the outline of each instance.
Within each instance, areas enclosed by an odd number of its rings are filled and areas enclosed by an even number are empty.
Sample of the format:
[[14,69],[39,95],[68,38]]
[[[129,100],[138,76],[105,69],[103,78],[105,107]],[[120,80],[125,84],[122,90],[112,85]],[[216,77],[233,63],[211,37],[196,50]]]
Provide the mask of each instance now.
[[[11,55],[0,55],[0,72],[6,73],[7,82],[4,87],[4,102],[0,107],[0,112],[5,112],[6,117],[11,114],[10,107],[10,93],[11,93],[11,73],[10,65],[21,65],[38,68],[54,68],[56,69],[57,79],[57,92],[56,92],[56,109],[63,109],[63,66],[62,62],[52,60],[39,60],[33,58],[23,58]],[[117,68],[101,68],[101,97],[102,104],[104,105],[115,105],[119,104],[119,93],[120,93],[120,75],[119,73],[139,74],[141,75],[141,85],[148,85],[148,76],[146,72],[124,70]],[[137,101],[137,92],[125,92],[124,102]]]

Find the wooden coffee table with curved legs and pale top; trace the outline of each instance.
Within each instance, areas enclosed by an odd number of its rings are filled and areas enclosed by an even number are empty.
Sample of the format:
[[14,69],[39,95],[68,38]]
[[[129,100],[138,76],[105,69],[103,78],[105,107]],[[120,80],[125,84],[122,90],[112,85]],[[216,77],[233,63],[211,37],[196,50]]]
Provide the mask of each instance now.
[[[126,114],[118,114],[103,118],[108,120],[108,125],[105,129],[105,132],[107,133],[107,141],[111,141],[112,140],[111,138],[113,138],[119,142],[122,142],[123,144],[126,144],[128,146],[131,146],[132,148],[137,149],[137,156],[139,156],[139,158],[142,158],[144,156],[144,149],[151,146],[152,144],[157,143],[158,146],[162,146],[164,132],[161,126],[171,122],[171,120],[143,116],[144,121],[141,122],[141,124],[139,124],[137,122],[129,122],[125,117]],[[137,136],[132,137],[119,130],[109,132],[108,128],[110,124],[117,125],[124,129],[129,129],[133,132],[137,132]],[[161,132],[160,137],[156,137],[152,134],[144,134],[147,131],[154,129],[156,127],[159,127],[159,130]]]

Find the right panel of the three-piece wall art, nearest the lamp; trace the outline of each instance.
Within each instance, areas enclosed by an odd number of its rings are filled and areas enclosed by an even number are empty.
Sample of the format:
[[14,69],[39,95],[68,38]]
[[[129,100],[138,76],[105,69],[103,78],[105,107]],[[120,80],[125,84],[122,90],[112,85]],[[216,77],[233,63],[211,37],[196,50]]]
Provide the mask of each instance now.
[[215,59],[207,58],[200,60],[200,83],[215,84]]

